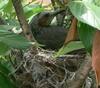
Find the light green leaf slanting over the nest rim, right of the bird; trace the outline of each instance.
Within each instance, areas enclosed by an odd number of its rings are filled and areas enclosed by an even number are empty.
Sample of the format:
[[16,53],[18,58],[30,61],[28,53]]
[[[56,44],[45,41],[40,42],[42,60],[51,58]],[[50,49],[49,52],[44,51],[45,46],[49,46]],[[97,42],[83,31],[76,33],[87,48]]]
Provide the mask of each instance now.
[[58,57],[60,55],[67,54],[71,51],[78,50],[84,48],[84,45],[81,41],[72,41],[69,42],[67,45],[63,46],[55,55],[54,57]]

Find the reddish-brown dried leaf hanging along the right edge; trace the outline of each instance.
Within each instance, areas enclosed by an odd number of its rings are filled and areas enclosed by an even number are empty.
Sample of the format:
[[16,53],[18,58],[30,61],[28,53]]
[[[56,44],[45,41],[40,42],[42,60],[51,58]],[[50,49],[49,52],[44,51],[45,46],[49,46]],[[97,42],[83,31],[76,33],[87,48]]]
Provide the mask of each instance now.
[[96,76],[96,83],[100,88],[100,31],[96,30],[92,47],[92,67]]

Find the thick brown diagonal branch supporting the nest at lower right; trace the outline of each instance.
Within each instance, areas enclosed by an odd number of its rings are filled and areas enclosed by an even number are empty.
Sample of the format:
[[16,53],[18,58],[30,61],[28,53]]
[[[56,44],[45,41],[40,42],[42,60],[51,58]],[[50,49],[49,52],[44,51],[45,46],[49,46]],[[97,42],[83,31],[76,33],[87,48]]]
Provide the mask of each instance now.
[[91,69],[91,57],[86,56],[84,63],[76,72],[75,78],[68,83],[68,88],[82,88],[82,85]]

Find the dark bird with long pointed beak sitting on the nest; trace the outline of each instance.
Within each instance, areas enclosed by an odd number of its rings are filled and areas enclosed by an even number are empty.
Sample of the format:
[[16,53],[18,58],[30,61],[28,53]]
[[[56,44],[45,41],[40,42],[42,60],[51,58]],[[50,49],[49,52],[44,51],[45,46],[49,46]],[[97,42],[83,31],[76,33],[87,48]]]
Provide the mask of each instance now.
[[29,23],[30,29],[36,41],[42,44],[44,49],[57,50],[63,45],[67,29],[62,26],[50,25],[53,18],[63,12],[41,12],[35,15]]

